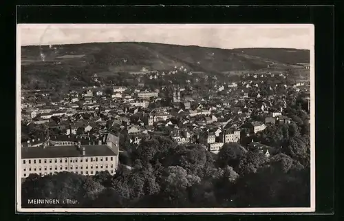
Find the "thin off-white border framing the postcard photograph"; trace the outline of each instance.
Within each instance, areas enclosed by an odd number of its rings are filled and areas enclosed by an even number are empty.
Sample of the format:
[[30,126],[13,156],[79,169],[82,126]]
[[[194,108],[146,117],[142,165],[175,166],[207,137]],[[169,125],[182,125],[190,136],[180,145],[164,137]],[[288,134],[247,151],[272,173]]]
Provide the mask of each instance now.
[[[211,26],[216,26],[220,28],[222,26],[235,26],[235,28],[243,27],[255,27],[255,28],[309,28],[310,29],[310,164],[311,164],[311,176],[310,176],[310,207],[305,208],[177,208],[177,209],[167,209],[167,208],[109,208],[109,209],[95,209],[95,208],[21,208],[21,27],[22,26],[44,26],[46,24],[17,24],[17,81],[16,81],[16,98],[17,98],[17,109],[16,109],[16,120],[17,120],[17,169],[16,169],[16,182],[17,182],[17,204],[16,210],[20,213],[304,213],[304,212],[314,212],[315,211],[315,74],[314,74],[314,25],[312,24],[211,24]],[[109,28],[114,24],[50,24],[50,28],[58,27],[60,28]],[[126,25],[126,24],[116,24],[116,25]],[[140,25],[140,24],[130,24],[130,25]],[[148,24],[145,24],[148,25]],[[161,25],[164,28],[176,26],[191,28],[195,24],[149,24],[149,25]],[[200,26],[210,26],[209,24],[197,24]]]

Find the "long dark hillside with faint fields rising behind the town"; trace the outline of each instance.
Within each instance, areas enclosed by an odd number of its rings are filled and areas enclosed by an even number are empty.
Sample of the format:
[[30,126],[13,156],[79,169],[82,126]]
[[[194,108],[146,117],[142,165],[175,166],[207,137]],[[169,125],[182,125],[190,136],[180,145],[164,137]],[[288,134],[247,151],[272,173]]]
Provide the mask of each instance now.
[[[160,43],[83,43],[77,45],[25,46],[21,48],[22,85],[68,87],[71,81],[87,84],[94,74],[116,75],[146,70],[169,71],[183,66],[193,72],[223,76],[239,71],[277,70],[289,64],[309,63],[308,50],[233,49]],[[123,78],[123,76],[121,76]]]

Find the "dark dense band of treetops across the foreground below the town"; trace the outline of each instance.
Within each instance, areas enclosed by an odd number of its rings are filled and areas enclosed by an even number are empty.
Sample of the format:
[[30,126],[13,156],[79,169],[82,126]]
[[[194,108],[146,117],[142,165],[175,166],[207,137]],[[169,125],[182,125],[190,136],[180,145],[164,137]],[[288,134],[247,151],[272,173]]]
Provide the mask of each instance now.
[[32,198],[78,201],[60,207],[308,207],[308,114],[295,116],[298,123],[269,126],[257,136],[278,149],[270,157],[237,143],[215,155],[167,136],[144,138],[130,151],[131,170],[120,166],[115,176],[30,175],[22,184],[23,207],[41,207],[28,205]]

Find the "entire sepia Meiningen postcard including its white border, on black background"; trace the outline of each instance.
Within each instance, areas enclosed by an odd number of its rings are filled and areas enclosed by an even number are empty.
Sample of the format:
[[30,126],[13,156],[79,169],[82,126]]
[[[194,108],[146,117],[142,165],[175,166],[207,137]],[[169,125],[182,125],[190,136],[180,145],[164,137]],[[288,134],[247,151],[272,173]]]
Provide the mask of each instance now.
[[314,25],[17,24],[17,211],[315,211]]

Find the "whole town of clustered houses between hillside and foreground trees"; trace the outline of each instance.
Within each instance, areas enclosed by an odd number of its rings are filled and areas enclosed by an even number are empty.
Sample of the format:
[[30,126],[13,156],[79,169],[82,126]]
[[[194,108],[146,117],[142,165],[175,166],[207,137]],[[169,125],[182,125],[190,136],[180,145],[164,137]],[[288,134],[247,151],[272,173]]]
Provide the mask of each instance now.
[[[309,64],[302,68],[308,70]],[[94,74],[95,85],[59,94],[60,100],[52,101],[53,90],[22,90],[21,177],[61,171],[115,174],[119,165],[131,169],[130,153],[141,140],[160,136],[178,145],[201,145],[215,155],[225,144],[238,143],[268,158],[281,147],[261,142],[261,132],[294,122],[290,105],[299,101],[310,113],[309,79],[290,81],[288,74],[252,71],[223,82],[183,66],[166,72],[142,67],[127,74],[136,85],[102,82]],[[178,85],[149,84],[173,75],[189,78]],[[211,87],[204,90],[192,80],[211,81]]]

